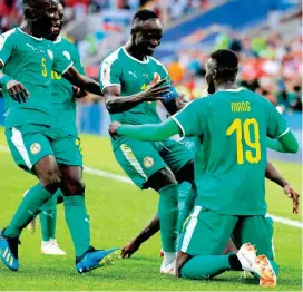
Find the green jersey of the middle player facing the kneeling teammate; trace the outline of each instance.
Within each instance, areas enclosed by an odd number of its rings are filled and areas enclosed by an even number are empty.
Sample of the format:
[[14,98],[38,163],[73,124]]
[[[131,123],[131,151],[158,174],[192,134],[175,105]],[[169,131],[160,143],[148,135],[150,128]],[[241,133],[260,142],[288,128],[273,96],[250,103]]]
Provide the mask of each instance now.
[[[120,86],[123,97],[138,94],[152,82],[168,78],[168,72],[155,58],[147,57],[147,60],[140,61],[120,47],[104,59],[99,77],[102,90],[108,86]],[[146,101],[127,111],[113,114],[110,118],[130,125],[160,123],[155,101]]]

